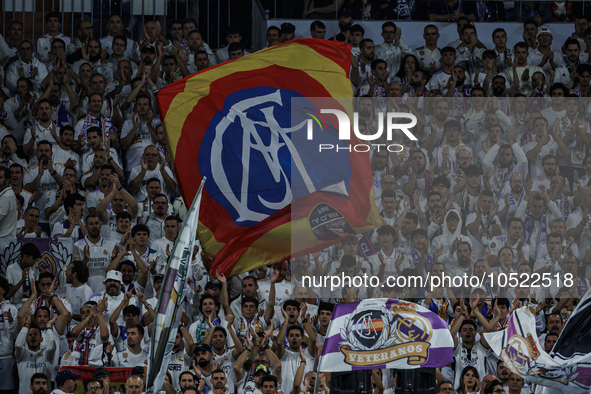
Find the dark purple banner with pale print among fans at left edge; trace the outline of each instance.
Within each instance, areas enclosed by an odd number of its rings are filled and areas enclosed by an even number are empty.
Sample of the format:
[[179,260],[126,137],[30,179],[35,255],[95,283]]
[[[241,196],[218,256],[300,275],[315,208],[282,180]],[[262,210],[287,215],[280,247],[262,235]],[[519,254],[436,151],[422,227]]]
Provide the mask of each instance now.
[[21,259],[21,248],[32,243],[39,248],[41,257],[37,267],[56,275],[72,262],[71,238],[5,238],[0,239],[0,273],[6,275],[6,268]]

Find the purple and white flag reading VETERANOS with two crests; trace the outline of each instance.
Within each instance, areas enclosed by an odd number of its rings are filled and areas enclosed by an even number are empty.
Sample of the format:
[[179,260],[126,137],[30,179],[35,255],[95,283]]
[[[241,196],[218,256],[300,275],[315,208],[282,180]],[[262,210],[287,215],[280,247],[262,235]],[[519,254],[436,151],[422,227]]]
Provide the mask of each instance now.
[[438,368],[452,362],[453,348],[447,324],[420,305],[386,298],[337,304],[319,371]]

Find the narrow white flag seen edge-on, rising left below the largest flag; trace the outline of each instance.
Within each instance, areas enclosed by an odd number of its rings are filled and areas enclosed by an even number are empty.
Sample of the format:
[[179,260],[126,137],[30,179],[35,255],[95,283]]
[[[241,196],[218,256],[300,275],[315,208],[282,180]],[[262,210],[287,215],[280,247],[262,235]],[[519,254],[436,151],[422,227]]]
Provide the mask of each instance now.
[[187,272],[193,256],[204,183],[205,179],[197,190],[193,204],[187,213],[187,220],[183,223],[174,243],[158,296],[150,341],[150,359],[148,360],[146,381],[146,393],[148,394],[159,393],[162,390],[167,366],[172,355],[181,318],[180,305],[185,297]]

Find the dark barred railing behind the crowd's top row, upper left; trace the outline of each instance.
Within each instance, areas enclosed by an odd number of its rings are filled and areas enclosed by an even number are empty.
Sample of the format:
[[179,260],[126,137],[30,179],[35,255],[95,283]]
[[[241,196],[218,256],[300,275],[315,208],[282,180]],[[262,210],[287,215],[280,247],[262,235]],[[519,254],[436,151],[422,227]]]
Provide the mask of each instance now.
[[23,38],[35,44],[46,33],[45,15],[50,11],[61,14],[62,32],[72,38],[79,20],[91,21],[95,37],[106,36],[110,15],[118,14],[134,40],[142,39],[146,21],[160,21],[166,32],[172,21],[193,18],[211,48],[227,44],[230,26],[242,30],[247,47],[258,50],[265,44],[260,0],[2,0],[2,34],[6,37],[10,23],[19,21]]

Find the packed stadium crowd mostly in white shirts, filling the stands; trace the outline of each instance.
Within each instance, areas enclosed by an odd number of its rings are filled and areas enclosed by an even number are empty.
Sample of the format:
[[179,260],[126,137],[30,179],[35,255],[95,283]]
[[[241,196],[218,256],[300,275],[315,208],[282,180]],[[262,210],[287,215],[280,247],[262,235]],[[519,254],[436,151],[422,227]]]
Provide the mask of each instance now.
[[[430,19],[455,21],[458,39],[439,42],[428,25],[416,49],[392,22],[374,43],[354,11],[339,14],[335,38],[352,46],[360,131],[374,134],[384,109],[418,118],[416,141],[374,141],[383,226],[368,237],[376,253],[364,257],[348,237],[226,279],[196,248],[166,393],[308,393],[318,379],[328,394],[330,374],[316,376],[314,364],[334,305],[365,297],[413,300],[449,323],[454,363],[437,371],[438,392],[540,390],[511,373],[482,334],[504,329],[526,306],[549,352],[589,288],[591,28],[576,19],[564,25],[572,38],[558,43],[536,17],[508,48],[503,29],[477,35],[471,22],[482,20],[480,10],[441,4],[448,8]],[[20,22],[0,39],[0,237],[71,238],[73,261],[58,283],[40,268],[38,247],[24,242],[20,261],[0,277],[0,393],[72,393],[77,377],[59,367],[92,366],[89,394],[112,392],[104,367],[139,367],[126,386],[139,394],[163,274],[187,213],[155,96],[248,52],[233,29],[214,52],[190,19],[167,32],[148,21],[138,41],[122,35],[116,14],[102,38],[86,20],[77,37],[62,33],[59,13],[45,23],[36,43],[22,39]],[[325,32],[311,23],[313,38]],[[285,23],[270,27],[267,41],[294,37]],[[434,289],[301,285],[304,276],[340,273],[489,280]],[[502,276],[534,273],[557,280],[499,285]],[[395,376],[374,370],[372,382],[375,394],[392,393]]]

